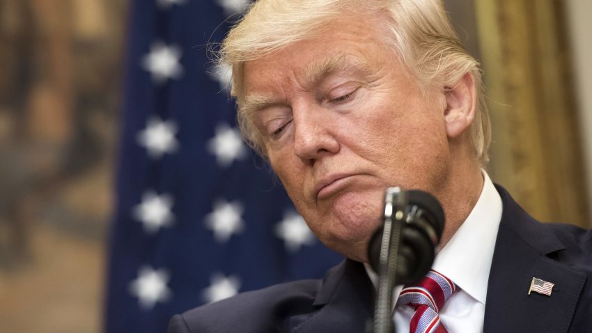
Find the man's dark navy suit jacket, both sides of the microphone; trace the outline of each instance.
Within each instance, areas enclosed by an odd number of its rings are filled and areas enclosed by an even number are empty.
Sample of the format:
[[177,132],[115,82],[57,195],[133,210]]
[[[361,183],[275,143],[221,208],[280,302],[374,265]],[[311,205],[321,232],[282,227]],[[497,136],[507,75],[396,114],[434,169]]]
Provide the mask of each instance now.
[[[503,203],[485,304],[485,333],[592,332],[592,232],[541,224],[501,187]],[[533,277],[555,284],[527,295]],[[364,266],[346,260],[320,280],[242,293],[174,316],[169,333],[362,333],[373,311]]]

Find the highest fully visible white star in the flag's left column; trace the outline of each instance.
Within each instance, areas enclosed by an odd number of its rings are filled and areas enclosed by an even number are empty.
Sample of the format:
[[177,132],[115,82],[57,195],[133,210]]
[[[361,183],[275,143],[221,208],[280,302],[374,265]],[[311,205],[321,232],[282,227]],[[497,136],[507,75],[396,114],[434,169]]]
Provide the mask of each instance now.
[[150,52],[144,56],[142,65],[152,75],[153,80],[162,84],[166,79],[178,79],[183,73],[179,60],[181,49],[174,45],[166,46],[156,42],[150,47]]

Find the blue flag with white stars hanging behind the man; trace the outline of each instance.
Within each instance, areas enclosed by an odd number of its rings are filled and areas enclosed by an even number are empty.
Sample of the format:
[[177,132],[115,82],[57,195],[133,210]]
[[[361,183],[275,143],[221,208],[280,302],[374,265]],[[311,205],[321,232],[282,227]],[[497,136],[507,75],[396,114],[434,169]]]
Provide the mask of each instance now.
[[166,332],[174,313],[341,260],[242,143],[208,56],[247,5],[131,3],[104,332]]

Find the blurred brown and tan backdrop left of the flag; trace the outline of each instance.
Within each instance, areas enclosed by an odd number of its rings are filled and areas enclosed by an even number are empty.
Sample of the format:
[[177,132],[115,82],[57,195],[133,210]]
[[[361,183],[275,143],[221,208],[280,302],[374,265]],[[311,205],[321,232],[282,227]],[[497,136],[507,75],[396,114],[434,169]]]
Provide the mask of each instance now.
[[0,331],[99,332],[124,0],[0,0]]

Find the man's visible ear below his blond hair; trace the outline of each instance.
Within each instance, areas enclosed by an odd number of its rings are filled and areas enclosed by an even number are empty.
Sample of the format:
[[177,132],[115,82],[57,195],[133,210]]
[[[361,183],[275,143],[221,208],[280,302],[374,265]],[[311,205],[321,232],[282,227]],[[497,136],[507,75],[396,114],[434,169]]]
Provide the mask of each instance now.
[[475,118],[477,91],[471,73],[465,73],[452,88],[446,88],[444,122],[449,138],[458,137],[471,127]]

